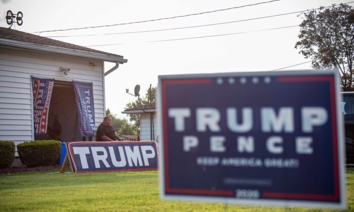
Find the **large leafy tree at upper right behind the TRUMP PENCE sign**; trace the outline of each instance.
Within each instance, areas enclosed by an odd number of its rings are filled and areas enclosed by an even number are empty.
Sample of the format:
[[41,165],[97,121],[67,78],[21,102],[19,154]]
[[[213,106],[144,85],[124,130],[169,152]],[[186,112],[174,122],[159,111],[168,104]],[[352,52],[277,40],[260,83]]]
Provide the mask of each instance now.
[[299,41],[295,48],[301,49],[306,59],[312,59],[315,69],[336,69],[341,76],[343,91],[354,90],[354,10],[349,5],[303,13]]

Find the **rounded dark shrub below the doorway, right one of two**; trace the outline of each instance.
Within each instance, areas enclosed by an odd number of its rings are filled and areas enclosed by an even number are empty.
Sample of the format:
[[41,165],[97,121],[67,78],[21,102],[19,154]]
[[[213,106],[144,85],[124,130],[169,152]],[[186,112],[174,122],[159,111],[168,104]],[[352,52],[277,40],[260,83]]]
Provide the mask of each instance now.
[[37,140],[17,145],[21,162],[28,167],[55,164],[60,154],[60,141]]

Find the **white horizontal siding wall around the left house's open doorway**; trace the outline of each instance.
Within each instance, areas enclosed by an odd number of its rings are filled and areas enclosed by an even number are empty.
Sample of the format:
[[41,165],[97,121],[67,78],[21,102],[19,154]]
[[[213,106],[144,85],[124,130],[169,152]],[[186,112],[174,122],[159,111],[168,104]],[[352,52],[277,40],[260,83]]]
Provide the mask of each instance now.
[[[69,74],[60,67],[70,68]],[[31,75],[93,82],[97,129],[105,112],[103,69],[99,60],[0,46],[0,140],[17,145],[34,139]]]

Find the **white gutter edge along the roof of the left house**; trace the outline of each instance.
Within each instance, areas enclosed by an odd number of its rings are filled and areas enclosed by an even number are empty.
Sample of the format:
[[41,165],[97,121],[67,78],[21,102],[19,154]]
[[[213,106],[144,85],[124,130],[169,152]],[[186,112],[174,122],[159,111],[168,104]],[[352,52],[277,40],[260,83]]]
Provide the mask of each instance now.
[[71,55],[71,56],[78,56],[84,58],[93,58],[93,59],[99,59],[99,60],[112,62],[112,63],[123,64],[128,62],[128,60],[124,59],[121,56],[114,57],[105,54],[100,54],[97,52],[84,51],[84,50],[79,50],[74,48],[65,48],[65,47],[59,47],[54,45],[36,44],[36,43],[23,42],[23,41],[11,40],[5,38],[0,38],[0,45],[16,46],[16,47],[28,48],[32,50],[48,51],[48,52],[59,53],[63,55]]

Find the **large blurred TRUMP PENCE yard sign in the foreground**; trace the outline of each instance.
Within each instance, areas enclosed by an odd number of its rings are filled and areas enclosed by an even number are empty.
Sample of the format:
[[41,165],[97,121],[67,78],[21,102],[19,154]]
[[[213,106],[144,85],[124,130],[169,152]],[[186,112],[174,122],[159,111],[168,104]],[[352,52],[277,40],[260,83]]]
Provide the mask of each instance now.
[[163,199],[345,207],[335,72],[159,76]]

